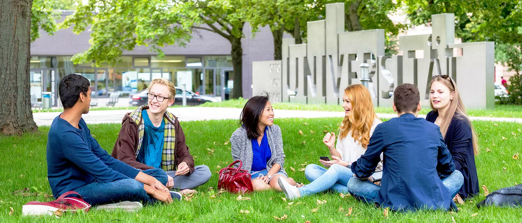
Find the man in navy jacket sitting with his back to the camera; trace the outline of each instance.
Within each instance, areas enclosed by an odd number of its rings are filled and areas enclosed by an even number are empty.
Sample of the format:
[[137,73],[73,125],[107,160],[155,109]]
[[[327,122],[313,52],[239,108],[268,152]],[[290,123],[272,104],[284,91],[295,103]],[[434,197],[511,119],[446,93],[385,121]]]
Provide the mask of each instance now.
[[[464,178],[455,170],[440,128],[417,117],[421,110],[417,86],[397,86],[393,109],[398,117],[377,125],[366,152],[352,163],[354,177],[348,181],[348,191],[357,199],[395,211],[457,211],[453,197]],[[381,153],[383,177],[378,186],[370,176]]]

